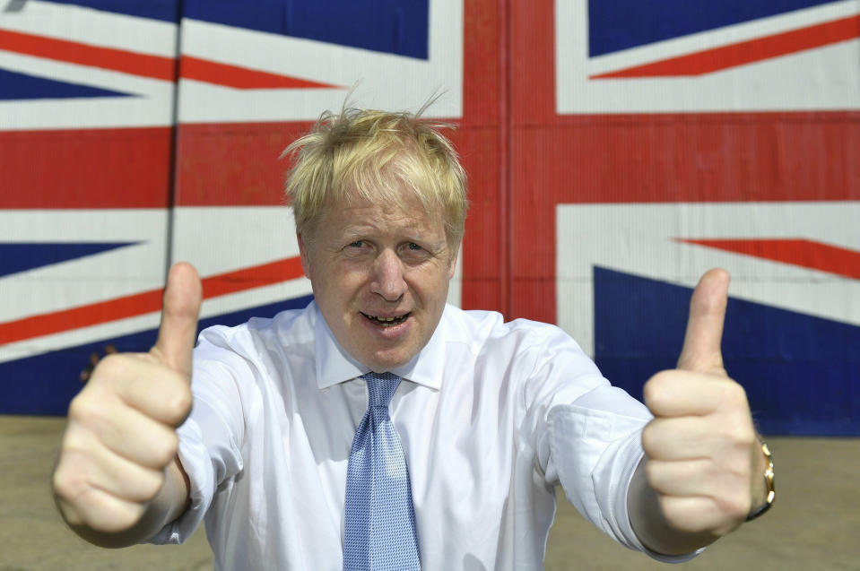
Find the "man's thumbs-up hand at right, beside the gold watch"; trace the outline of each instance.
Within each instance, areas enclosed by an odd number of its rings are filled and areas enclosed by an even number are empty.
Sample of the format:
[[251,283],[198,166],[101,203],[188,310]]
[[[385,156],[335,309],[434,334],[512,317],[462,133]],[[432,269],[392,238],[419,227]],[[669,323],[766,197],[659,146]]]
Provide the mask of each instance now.
[[675,531],[714,541],[743,523],[763,494],[763,456],[743,387],[720,343],[729,275],[711,270],[693,292],[678,368],[652,376],[642,433],[647,483]]

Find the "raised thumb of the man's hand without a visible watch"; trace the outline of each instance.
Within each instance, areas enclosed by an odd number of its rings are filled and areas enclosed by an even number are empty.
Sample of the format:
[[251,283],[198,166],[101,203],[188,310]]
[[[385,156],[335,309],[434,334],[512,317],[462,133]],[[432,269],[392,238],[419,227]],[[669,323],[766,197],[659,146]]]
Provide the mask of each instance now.
[[158,341],[151,352],[162,364],[188,377],[202,298],[203,287],[195,267],[174,264],[164,288]]

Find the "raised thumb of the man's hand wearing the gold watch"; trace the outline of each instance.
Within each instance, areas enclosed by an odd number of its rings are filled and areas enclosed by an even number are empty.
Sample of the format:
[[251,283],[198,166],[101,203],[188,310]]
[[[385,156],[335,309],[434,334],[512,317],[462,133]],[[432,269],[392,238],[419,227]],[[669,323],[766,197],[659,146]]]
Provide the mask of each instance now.
[[729,280],[728,272],[715,268],[705,273],[693,290],[678,368],[725,375],[720,345],[723,342]]

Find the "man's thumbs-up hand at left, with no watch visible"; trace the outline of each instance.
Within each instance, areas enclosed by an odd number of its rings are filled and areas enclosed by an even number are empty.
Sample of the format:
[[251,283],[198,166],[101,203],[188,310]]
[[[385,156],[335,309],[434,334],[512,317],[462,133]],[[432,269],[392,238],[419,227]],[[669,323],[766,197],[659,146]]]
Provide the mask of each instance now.
[[155,346],[102,359],[69,407],[53,487],[65,521],[84,539],[135,543],[185,508],[176,428],[191,411],[201,296],[194,267],[174,265]]

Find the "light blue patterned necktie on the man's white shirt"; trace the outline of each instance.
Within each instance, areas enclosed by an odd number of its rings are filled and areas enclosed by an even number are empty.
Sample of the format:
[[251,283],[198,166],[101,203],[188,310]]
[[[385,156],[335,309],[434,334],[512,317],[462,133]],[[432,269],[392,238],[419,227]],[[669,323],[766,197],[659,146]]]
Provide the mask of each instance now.
[[400,377],[368,373],[369,406],[346,472],[343,571],[421,569],[413,495],[388,403]]

